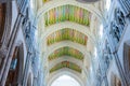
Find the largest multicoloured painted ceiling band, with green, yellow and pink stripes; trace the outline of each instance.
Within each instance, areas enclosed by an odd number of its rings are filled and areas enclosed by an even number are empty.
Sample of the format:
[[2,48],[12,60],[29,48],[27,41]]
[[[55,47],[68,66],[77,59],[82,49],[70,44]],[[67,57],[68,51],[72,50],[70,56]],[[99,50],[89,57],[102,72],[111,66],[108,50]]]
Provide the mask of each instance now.
[[[48,1],[48,0],[46,0]],[[46,27],[61,22],[74,22],[90,25],[90,12],[76,5],[62,5],[51,9],[44,14]]]

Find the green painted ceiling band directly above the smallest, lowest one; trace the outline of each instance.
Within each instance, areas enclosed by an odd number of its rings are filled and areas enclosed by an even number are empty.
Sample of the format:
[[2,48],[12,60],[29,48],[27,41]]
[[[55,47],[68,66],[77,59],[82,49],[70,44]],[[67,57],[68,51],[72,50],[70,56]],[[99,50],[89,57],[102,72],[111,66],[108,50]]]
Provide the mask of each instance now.
[[79,52],[73,47],[65,46],[65,47],[61,47],[61,48],[54,51],[49,56],[49,60],[51,61],[53,59],[61,58],[62,56],[70,56],[70,57],[79,59],[79,60],[83,60],[83,57],[84,57],[81,52]]

